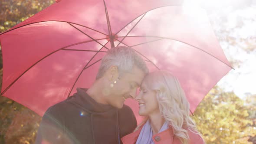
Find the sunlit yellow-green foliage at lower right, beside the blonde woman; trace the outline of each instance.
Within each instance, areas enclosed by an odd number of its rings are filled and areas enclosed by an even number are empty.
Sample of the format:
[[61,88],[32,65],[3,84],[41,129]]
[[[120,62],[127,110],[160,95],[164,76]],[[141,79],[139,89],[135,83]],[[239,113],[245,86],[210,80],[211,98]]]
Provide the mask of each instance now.
[[233,92],[216,86],[197,107],[193,119],[207,144],[249,144],[249,138],[256,135],[250,108]]

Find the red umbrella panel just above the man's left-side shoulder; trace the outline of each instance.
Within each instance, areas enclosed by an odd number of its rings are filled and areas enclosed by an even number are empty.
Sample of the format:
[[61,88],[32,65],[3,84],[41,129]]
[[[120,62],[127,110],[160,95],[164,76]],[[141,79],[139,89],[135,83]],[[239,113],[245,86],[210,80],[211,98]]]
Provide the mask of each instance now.
[[[4,95],[43,115],[51,105],[68,97],[78,75],[95,53],[56,52],[26,72]],[[93,81],[87,79],[86,82]]]

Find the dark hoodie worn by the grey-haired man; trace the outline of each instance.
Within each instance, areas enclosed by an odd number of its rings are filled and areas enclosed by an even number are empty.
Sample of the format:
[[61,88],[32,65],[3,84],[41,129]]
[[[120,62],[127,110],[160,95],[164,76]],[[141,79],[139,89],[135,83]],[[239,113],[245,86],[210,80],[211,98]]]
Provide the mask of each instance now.
[[43,115],[36,144],[121,144],[137,126],[131,108],[96,102],[85,88],[53,105]]

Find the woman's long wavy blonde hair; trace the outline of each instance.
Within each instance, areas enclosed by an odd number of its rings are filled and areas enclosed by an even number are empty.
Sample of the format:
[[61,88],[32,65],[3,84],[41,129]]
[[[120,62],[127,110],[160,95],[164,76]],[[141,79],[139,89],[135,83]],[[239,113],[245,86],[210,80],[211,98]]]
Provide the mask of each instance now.
[[[156,71],[148,73],[144,82],[149,89],[157,92],[160,113],[168,124],[174,128],[174,135],[180,139],[182,144],[189,144],[188,131],[183,126],[201,136],[197,131],[196,124],[190,118],[190,104],[176,77],[169,72]],[[146,116],[135,131],[147,120],[148,117]]]

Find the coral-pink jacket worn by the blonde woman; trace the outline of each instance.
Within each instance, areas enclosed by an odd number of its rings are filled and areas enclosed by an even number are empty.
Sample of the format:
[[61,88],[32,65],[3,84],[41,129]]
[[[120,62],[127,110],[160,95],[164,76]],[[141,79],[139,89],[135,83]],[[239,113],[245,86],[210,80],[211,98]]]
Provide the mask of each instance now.
[[[142,127],[138,131],[122,137],[121,141],[123,144],[135,144],[141,129]],[[204,144],[202,137],[200,137],[198,134],[194,134],[192,131],[188,131],[188,135],[190,137],[189,144]],[[165,131],[155,134],[152,138],[155,144],[181,144],[181,141],[174,136],[173,128],[168,128]]]

